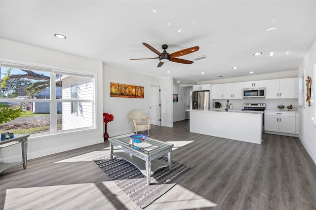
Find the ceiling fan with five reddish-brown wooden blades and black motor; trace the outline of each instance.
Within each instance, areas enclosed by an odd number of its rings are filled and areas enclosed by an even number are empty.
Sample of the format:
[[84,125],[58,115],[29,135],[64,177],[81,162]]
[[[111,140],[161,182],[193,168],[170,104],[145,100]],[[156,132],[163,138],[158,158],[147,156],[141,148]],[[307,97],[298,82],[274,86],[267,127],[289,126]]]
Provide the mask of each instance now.
[[[161,53],[158,50],[156,50],[154,47],[150,46],[149,44],[145,42],[143,42],[143,44],[148,49],[150,49],[151,51],[153,51],[154,53],[158,55],[157,58],[159,59],[159,63],[157,67],[161,67],[164,63],[169,62],[169,61],[181,63],[181,64],[192,64],[193,61],[188,61],[188,60],[177,58],[177,57],[193,53],[199,49],[198,46],[195,46],[195,47],[190,47],[190,48],[179,50],[177,52],[173,52],[169,54],[166,52],[166,49],[168,48],[167,44],[162,44],[161,47],[163,49],[163,52]],[[130,60],[145,60],[145,59],[157,59],[157,58],[134,58]]]

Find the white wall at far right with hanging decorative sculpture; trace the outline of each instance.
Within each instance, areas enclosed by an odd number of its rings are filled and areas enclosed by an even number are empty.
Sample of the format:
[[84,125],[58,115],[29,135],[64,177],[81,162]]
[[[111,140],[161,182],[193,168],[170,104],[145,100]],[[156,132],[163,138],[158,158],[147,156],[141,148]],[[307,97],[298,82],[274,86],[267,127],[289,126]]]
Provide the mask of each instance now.
[[[311,46],[308,53],[305,55],[302,63],[298,68],[298,77],[301,77],[306,72],[305,76],[312,77],[312,85],[316,82],[316,78],[314,78],[314,65],[316,64],[316,41]],[[304,84],[305,85],[305,84]],[[306,86],[305,86],[306,87]],[[315,93],[315,90],[312,87],[312,91]],[[306,88],[305,88],[306,89]],[[314,96],[315,97],[315,96]],[[304,99],[306,99],[306,95],[304,95]],[[308,151],[308,153],[313,158],[316,163],[316,125],[312,120],[312,117],[315,116],[314,111],[316,111],[315,102],[312,103],[312,106],[299,107],[300,112],[300,134],[299,139],[302,141],[304,147]]]

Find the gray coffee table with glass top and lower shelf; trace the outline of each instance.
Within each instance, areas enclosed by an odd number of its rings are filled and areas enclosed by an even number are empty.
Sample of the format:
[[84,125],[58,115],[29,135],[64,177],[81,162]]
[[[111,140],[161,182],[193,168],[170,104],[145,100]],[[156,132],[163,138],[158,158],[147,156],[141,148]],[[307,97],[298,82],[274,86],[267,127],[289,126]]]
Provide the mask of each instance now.
[[[136,166],[143,175],[146,176],[147,184],[150,184],[150,177],[158,169],[168,167],[171,171],[171,153],[173,144],[155,140],[147,137],[143,142],[135,143],[130,140],[133,134],[125,134],[121,136],[109,138],[110,142],[110,158],[113,155],[118,156],[134,166]],[[114,152],[113,147],[116,146],[123,151]],[[168,163],[158,160],[157,158],[168,154]]]

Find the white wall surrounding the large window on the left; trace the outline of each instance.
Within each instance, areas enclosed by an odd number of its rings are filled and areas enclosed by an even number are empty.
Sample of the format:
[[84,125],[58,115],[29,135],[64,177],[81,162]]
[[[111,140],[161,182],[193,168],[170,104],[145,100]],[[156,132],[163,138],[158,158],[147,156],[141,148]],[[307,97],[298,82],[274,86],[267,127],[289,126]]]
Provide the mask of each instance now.
[[[37,46],[23,44],[7,39],[0,39],[1,61],[14,61],[26,65],[57,68],[62,70],[91,71],[97,74],[96,112],[97,129],[74,132],[71,134],[51,135],[42,138],[29,137],[28,159],[33,159],[57,152],[75,149],[103,142],[103,86],[102,62],[62,53]],[[21,145],[13,145],[1,149],[1,159],[15,161],[21,159]],[[6,161],[5,161],[6,162]]]

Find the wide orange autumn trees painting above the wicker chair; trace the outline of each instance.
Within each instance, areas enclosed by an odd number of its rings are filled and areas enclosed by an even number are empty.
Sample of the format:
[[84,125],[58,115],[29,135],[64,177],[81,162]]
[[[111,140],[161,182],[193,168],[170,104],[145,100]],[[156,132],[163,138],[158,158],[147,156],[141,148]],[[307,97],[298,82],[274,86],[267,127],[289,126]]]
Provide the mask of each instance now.
[[110,97],[144,98],[144,87],[110,82]]

